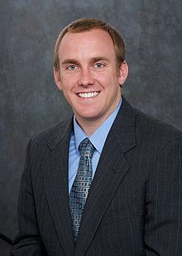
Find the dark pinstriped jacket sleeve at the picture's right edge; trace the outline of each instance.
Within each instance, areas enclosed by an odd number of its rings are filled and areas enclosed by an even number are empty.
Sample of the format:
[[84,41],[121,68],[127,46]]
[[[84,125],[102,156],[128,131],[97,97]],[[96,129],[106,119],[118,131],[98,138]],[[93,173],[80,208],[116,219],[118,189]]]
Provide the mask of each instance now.
[[182,255],[182,137],[165,145],[146,189],[146,255]]

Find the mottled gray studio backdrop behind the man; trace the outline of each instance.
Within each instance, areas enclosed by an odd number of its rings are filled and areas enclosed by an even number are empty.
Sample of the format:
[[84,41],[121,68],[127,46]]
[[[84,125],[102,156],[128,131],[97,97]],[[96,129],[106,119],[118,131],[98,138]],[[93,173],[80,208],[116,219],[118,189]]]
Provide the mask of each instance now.
[[27,142],[71,115],[55,86],[53,52],[60,30],[79,17],[117,27],[127,45],[127,100],[182,130],[181,0],[1,0],[0,232],[11,239]]

